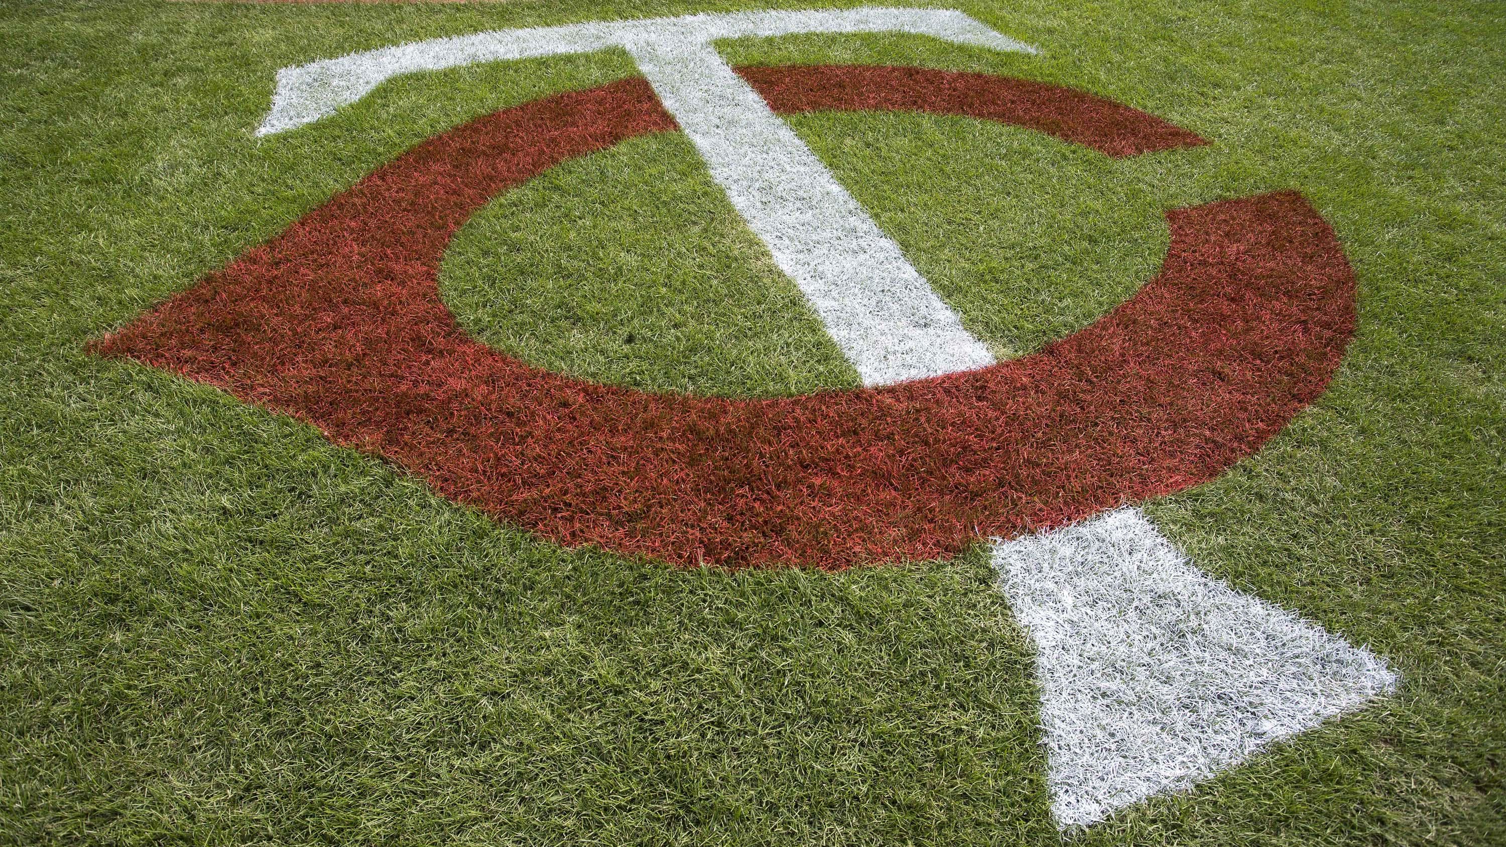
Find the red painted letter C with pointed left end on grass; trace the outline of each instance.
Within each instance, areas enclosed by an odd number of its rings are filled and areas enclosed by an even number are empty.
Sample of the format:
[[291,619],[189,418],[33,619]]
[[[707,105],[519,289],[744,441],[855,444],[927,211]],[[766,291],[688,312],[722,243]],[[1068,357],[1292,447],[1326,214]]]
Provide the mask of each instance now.
[[[1202,143],[1039,83],[914,68],[741,71],[779,110],[1006,121],[1110,155]],[[1161,274],[1090,327],[980,371],[738,401],[592,384],[467,336],[455,231],[577,155],[673,130],[623,80],[435,136],[96,344],[380,454],[563,544],[676,564],[956,553],[1211,479],[1316,398],[1354,329],[1331,229],[1286,191],[1167,214]]]

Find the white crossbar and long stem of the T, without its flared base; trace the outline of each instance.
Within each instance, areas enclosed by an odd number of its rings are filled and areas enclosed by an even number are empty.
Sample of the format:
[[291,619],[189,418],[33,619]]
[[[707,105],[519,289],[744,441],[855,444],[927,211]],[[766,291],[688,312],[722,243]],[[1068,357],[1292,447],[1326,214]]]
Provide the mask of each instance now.
[[622,47],[774,262],[804,292],[863,384],[992,365],[992,353],[962,327],[899,246],[711,45],[803,32],[905,32],[1035,53],[947,9],[738,12],[498,30],[283,68],[258,134],[318,121],[399,74]]

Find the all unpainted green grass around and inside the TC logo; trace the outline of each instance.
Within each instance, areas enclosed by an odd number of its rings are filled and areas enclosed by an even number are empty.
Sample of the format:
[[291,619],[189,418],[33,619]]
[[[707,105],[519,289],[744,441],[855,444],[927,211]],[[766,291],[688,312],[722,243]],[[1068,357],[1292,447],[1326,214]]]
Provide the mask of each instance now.
[[[1358,277],[1345,365],[1261,454],[1146,511],[1208,573],[1384,656],[1396,696],[1063,836],[1033,654],[982,549],[842,573],[563,549],[86,353],[425,137],[636,72],[605,51],[410,75],[256,139],[277,68],[741,3],[9,0],[0,842],[1506,844],[1501,6],[947,6],[1044,53],[721,53],[1018,75],[1212,142],[1111,161],[967,119],[789,119],[1000,357],[1151,279],[1164,209],[1303,191]],[[857,384],[678,134],[498,196],[441,289],[488,344],[590,380]]]

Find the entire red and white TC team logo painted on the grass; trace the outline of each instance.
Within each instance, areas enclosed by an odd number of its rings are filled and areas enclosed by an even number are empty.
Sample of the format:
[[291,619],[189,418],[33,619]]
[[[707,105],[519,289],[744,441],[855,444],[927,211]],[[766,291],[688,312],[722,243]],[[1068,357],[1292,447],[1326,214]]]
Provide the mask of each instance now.
[[[548,96],[431,137],[98,350],[291,413],[458,502],[562,544],[682,565],[944,558],[977,538],[1071,527],[1212,479],[1322,392],[1354,332],[1354,274],[1333,231],[1294,191],[1169,213],[1170,249],[1152,282],[1081,332],[994,362],[776,113],[958,115],[1027,127],[1108,157],[1208,142],[1128,105],[1042,83],[922,68],[732,69],[711,47],[721,38],[876,30],[1033,51],[958,12],[854,9],[482,33],[285,69],[262,134],[316,121],[392,75],[470,62],[622,47],[646,80]],[[804,292],[864,389],[762,401],[630,390],[529,366],[456,324],[440,298],[438,271],[471,214],[565,160],[675,130],[696,145]],[[1131,707],[1136,729],[1114,729],[1126,758],[1108,766],[1154,778],[1128,787],[1113,775],[1081,778],[1095,755],[1113,757],[1101,752],[1104,729],[1075,726],[1072,708],[1104,707],[1080,681],[1053,681],[1053,669],[1069,662],[1056,662],[1050,650],[1081,645],[1053,647],[1047,638],[1074,606],[1063,612],[1036,601],[1039,550],[1060,558],[1066,544],[1099,565],[1133,559],[1149,568],[1137,580],[1217,594],[1175,550],[1158,546],[1154,527],[1146,534],[1143,517],[1113,514],[1108,523],[1063,531],[1078,532],[1077,541],[1051,535],[995,546],[1003,586],[1042,651],[1044,722],[1059,748],[1053,787],[1063,823],[1098,820],[1206,776],[1390,683],[1369,654],[1235,595],[1220,613],[1238,613],[1217,618],[1218,625],[1274,633],[1288,653],[1262,660],[1303,674],[1339,668],[1346,687],[1288,702],[1276,719],[1268,704],[1236,708],[1223,719],[1239,731],[1220,735],[1233,740],[1217,749],[1205,743],[1214,737],[1206,728],[1176,723],[1157,714],[1166,704],[1148,701]],[[1122,543],[1108,559],[1092,552],[1104,526],[1116,527],[1110,535]],[[1086,565],[1072,573],[1105,579]],[[1050,577],[1053,589],[1068,583]],[[1105,650],[1117,650],[1139,636],[1105,638]],[[1271,683],[1259,672],[1247,677],[1209,684],[1241,689],[1241,702],[1259,701],[1261,686]],[[1268,726],[1264,735],[1242,729],[1254,723]],[[1166,758],[1187,758],[1176,738],[1188,734],[1197,737],[1188,754],[1196,761],[1161,767]],[[1130,737],[1170,752],[1146,761],[1126,746]],[[1078,776],[1063,776],[1071,773]]]

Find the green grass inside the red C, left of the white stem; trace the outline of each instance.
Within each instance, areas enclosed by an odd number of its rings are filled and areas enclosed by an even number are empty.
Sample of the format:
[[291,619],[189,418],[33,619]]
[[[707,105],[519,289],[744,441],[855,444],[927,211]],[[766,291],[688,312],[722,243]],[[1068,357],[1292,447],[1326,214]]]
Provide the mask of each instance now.
[[679,133],[508,191],[456,235],[440,291],[476,338],[587,380],[733,396],[858,384]]

